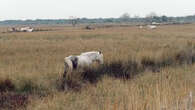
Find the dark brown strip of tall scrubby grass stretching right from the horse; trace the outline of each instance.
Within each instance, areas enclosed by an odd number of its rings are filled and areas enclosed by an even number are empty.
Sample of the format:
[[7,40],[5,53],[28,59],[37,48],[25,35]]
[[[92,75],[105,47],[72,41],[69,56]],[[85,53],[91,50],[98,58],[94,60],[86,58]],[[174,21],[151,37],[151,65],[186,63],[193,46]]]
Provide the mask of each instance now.
[[[195,63],[195,47],[191,43],[187,43],[185,47],[172,53],[172,55],[170,53],[161,53],[162,55],[158,58],[144,56],[140,62],[133,59],[118,60],[110,63],[106,62],[96,67],[85,68],[83,71],[76,70],[73,71],[71,78],[67,78],[66,74],[64,74],[65,77],[63,77],[63,81],[61,82],[62,88],[64,89],[67,86],[69,89],[78,89],[78,87],[81,88],[82,83],[86,83],[86,81],[97,83],[105,75],[126,80],[144,71],[160,72],[160,69],[166,67],[177,67]],[[167,56],[164,56],[165,54]]]

